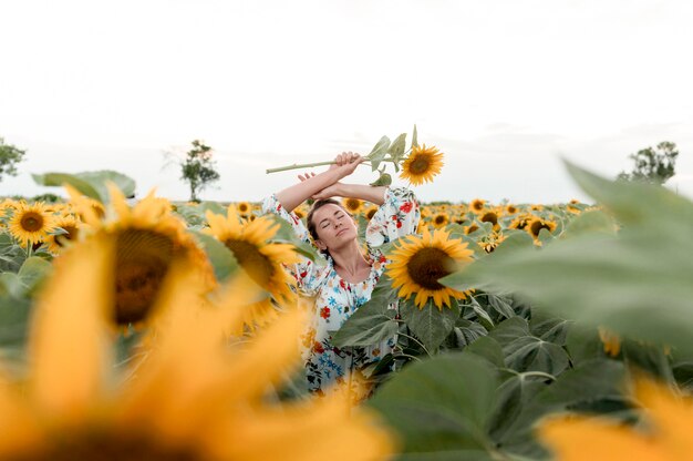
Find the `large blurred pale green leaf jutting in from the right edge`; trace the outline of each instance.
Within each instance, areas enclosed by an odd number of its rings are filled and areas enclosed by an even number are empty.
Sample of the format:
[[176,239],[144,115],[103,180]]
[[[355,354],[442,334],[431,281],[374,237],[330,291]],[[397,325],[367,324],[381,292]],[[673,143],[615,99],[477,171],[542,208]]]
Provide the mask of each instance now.
[[563,318],[693,355],[693,204],[654,186],[570,171],[624,223],[617,236],[586,233],[540,250],[494,252],[441,281],[510,290]]

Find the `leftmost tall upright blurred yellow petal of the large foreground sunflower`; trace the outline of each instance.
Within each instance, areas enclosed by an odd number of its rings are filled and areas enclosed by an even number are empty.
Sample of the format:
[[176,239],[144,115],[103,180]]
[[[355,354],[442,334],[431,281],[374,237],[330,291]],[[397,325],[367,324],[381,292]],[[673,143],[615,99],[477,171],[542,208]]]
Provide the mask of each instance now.
[[114,243],[89,239],[55,260],[32,325],[31,389],[39,408],[83,417],[111,367],[106,318],[112,311]]

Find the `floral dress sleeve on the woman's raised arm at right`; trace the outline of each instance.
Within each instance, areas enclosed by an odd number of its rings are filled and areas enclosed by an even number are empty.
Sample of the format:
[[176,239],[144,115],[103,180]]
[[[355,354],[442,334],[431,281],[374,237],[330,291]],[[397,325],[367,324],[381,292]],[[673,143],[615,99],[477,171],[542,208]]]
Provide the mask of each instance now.
[[406,187],[387,187],[385,201],[365,229],[369,249],[376,249],[404,235],[416,233],[420,218],[418,202],[412,191]]

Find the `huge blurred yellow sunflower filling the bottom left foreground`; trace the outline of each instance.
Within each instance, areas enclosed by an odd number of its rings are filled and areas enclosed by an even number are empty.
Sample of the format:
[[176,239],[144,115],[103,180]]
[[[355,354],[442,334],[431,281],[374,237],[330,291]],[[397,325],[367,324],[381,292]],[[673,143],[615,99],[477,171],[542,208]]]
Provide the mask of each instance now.
[[302,309],[229,345],[220,326],[242,321],[252,290],[227,294],[238,309],[214,308],[180,260],[157,299],[166,314],[152,349],[118,373],[108,328],[116,246],[91,238],[55,262],[34,310],[27,381],[0,379],[0,459],[365,461],[392,452],[374,416],[339,395],[266,399],[299,360]]

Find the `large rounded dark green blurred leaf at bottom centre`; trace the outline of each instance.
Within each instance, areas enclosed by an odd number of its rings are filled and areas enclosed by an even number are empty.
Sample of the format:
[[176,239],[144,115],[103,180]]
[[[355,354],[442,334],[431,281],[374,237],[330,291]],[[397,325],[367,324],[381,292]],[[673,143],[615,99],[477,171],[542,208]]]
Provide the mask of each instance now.
[[456,450],[483,452],[492,445],[486,428],[496,386],[486,361],[443,355],[406,367],[369,406],[399,432],[410,459],[461,459],[453,457]]

